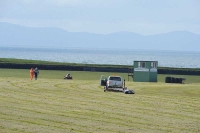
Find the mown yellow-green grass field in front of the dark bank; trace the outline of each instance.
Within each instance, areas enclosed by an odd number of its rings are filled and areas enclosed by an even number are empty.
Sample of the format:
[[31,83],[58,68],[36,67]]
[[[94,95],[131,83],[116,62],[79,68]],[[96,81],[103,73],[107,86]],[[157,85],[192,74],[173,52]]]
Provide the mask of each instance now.
[[[73,80],[63,80],[70,73]],[[185,84],[128,81],[134,95],[103,92],[104,72],[40,70],[38,80],[29,70],[0,69],[1,133],[199,133],[200,76]]]

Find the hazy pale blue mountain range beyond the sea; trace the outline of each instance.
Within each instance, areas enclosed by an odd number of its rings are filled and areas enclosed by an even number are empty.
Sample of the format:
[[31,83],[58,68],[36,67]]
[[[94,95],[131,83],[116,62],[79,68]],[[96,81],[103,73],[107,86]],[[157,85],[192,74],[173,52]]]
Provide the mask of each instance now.
[[188,31],[149,36],[134,32],[104,35],[0,22],[0,46],[200,51],[200,35]]

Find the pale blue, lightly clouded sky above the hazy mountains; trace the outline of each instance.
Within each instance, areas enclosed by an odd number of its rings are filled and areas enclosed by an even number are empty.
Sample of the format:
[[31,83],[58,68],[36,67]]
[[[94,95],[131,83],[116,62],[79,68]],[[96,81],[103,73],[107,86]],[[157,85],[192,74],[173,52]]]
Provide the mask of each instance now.
[[0,22],[69,32],[200,34],[200,0],[0,0]]

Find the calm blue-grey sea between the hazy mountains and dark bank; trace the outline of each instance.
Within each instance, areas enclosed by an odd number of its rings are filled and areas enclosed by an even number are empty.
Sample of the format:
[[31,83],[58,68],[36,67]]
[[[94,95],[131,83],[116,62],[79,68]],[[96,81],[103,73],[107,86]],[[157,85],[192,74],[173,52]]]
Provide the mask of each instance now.
[[0,58],[130,66],[134,61],[158,61],[159,67],[200,68],[200,51],[0,46]]

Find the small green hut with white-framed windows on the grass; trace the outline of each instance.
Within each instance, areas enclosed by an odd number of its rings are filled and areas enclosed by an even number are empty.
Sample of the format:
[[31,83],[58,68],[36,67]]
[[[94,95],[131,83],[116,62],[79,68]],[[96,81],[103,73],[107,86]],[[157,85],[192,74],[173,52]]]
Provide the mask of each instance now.
[[158,61],[134,61],[135,82],[157,82]]

